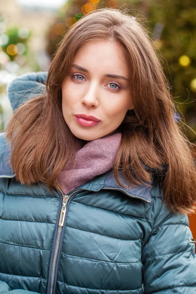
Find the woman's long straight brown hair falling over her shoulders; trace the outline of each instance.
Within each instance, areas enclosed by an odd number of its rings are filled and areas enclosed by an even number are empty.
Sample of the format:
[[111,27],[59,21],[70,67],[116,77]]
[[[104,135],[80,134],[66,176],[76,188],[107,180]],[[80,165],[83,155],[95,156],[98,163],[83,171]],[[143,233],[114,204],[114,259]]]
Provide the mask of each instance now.
[[196,169],[191,143],[174,120],[175,105],[161,62],[137,19],[119,9],[99,8],[70,27],[50,64],[46,95],[21,105],[7,125],[10,164],[16,179],[30,185],[58,185],[59,172],[73,163],[75,137],[65,123],[61,87],[69,76],[77,49],[88,41],[119,42],[130,70],[134,110],[120,125],[122,142],[114,165],[131,186],[158,179],[164,200],[173,212],[196,210]]

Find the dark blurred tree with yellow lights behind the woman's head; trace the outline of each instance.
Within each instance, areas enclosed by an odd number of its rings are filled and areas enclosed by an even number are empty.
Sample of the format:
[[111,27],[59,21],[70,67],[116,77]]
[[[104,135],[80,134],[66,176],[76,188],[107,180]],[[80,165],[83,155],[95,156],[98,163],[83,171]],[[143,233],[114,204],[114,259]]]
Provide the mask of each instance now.
[[[188,138],[196,141],[196,2],[195,0],[68,0],[59,9],[47,32],[47,51],[51,58],[67,29],[82,15],[97,7],[128,10],[149,31],[164,71],[172,86],[176,111],[188,126]],[[161,54],[160,54],[161,53]]]

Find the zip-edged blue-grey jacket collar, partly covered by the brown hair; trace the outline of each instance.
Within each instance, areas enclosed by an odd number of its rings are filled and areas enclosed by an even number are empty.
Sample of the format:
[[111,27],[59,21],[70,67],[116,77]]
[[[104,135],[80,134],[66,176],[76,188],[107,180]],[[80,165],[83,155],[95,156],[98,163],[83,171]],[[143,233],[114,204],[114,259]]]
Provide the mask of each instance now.
[[[12,171],[10,165],[9,165],[9,160],[11,156],[11,151],[10,151],[10,146],[9,144],[4,145],[4,151],[1,153],[1,158],[0,158],[0,177],[5,177],[5,178],[12,178],[15,176],[15,173]],[[123,177],[123,172],[120,172],[120,180],[128,186],[127,181]],[[150,182],[149,184],[152,184]],[[125,195],[134,197],[134,198],[139,198],[141,200],[151,202],[151,187],[148,187],[145,184],[141,184],[139,187],[128,187],[124,188],[116,182],[114,178],[114,172],[109,171],[105,172],[93,180],[89,181],[86,184],[81,185],[78,187],[78,189],[84,189],[88,191],[93,191],[93,192],[98,192],[101,189],[108,189],[108,190],[117,190],[117,191],[122,191]]]

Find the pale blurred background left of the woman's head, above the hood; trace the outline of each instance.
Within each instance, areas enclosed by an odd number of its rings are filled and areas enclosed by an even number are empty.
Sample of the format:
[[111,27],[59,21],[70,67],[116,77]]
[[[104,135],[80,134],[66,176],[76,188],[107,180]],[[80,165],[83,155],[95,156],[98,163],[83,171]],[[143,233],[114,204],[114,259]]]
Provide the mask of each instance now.
[[45,33],[56,10],[27,7],[29,0],[22,1],[0,0],[0,131],[12,116],[7,85],[18,75],[48,70],[50,61]]

